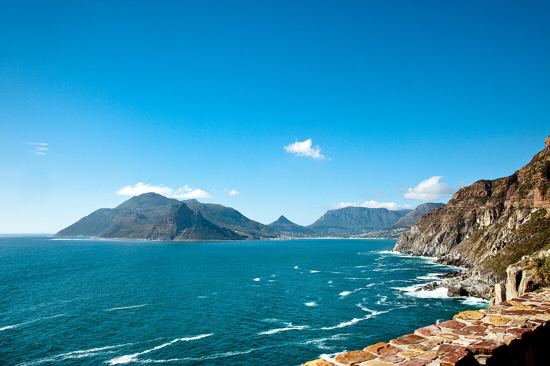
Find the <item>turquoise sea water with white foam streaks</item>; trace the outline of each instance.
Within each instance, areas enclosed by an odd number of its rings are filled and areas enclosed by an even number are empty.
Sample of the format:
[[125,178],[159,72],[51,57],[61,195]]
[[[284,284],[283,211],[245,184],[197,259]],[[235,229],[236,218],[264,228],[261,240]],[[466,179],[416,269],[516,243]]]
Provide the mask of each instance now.
[[292,366],[488,306],[394,243],[0,237],[0,364]]

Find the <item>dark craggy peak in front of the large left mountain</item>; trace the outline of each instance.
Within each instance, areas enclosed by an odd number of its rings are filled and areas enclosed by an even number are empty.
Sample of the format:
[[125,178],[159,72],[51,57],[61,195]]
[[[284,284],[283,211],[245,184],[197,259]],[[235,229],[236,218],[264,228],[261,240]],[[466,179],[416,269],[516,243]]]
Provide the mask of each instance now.
[[173,204],[166,215],[153,226],[146,239],[152,240],[243,240],[233,230],[220,228],[191,210],[184,203]]

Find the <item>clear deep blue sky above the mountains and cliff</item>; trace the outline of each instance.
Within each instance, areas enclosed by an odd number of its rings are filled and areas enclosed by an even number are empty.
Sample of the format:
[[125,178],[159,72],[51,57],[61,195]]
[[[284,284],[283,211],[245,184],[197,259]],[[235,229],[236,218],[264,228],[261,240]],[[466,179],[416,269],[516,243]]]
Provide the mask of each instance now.
[[303,225],[340,202],[446,202],[544,147],[549,10],[2,2],[0,232],[147,189]]

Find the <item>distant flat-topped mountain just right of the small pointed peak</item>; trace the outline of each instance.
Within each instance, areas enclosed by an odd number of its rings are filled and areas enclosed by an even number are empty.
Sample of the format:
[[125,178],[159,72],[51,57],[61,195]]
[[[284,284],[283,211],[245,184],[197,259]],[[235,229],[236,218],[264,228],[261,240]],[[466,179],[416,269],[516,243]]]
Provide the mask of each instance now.
[[386,208],[344,207],[328,210],[315,223],[308,225],[316,231],[340,230],[359,232],[387,228],[411,210],[390,211]]

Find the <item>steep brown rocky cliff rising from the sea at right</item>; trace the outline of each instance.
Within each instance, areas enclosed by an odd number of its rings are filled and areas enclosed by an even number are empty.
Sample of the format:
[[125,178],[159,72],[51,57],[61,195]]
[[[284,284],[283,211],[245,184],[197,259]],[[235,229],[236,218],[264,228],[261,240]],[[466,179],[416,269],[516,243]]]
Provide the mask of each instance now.
[[550,247],[550,136],[514,174],[460,188],[422,216],[395,250],[468,268],[443,281],[449,294],[489,298],[508,265]]

